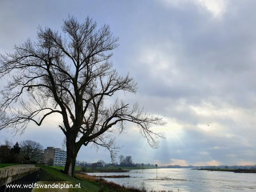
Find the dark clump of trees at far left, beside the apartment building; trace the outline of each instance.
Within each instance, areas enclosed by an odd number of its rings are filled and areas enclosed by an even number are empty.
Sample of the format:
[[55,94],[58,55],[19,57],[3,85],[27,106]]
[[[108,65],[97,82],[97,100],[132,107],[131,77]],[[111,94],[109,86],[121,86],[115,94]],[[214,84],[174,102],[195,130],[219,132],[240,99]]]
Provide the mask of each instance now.
[[14,145],[5,140],[0,144],[0,163],[37,163],[42,159],[43,146],[33,140],[23,140]]

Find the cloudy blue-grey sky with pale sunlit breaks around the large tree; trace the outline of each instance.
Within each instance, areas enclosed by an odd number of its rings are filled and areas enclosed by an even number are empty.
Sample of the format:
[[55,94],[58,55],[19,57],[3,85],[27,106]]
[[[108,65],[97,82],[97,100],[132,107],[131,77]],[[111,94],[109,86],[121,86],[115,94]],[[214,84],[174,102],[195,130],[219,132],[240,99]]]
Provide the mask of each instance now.
[[[0,52],[35,39],[37,26],[60,30],[70,13],[107,23],[120,46],[113,63],[138,82],[129,103],[164,114],[158,149],[134,126],[117,137],[119,154],[161,165],[256,164],[256,1],[254,0],[0,0]],[[6,79],[0,83],[4,85]],[[13,142],[32,139],[61,148],[57,118],[30,124]],[[209,124],[209,126],[207,125]],[[78,160],[109,162],[108,151],[82,147]]]

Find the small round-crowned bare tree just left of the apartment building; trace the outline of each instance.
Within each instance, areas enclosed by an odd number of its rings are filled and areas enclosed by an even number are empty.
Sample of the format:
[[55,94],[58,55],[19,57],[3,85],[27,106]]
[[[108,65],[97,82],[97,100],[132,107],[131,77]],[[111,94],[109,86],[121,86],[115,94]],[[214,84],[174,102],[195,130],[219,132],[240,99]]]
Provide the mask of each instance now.
[[43,152],[43,146],[32,140],[24,140],[20,142],[21,153],[27,161],[39,161],[40,153]]

